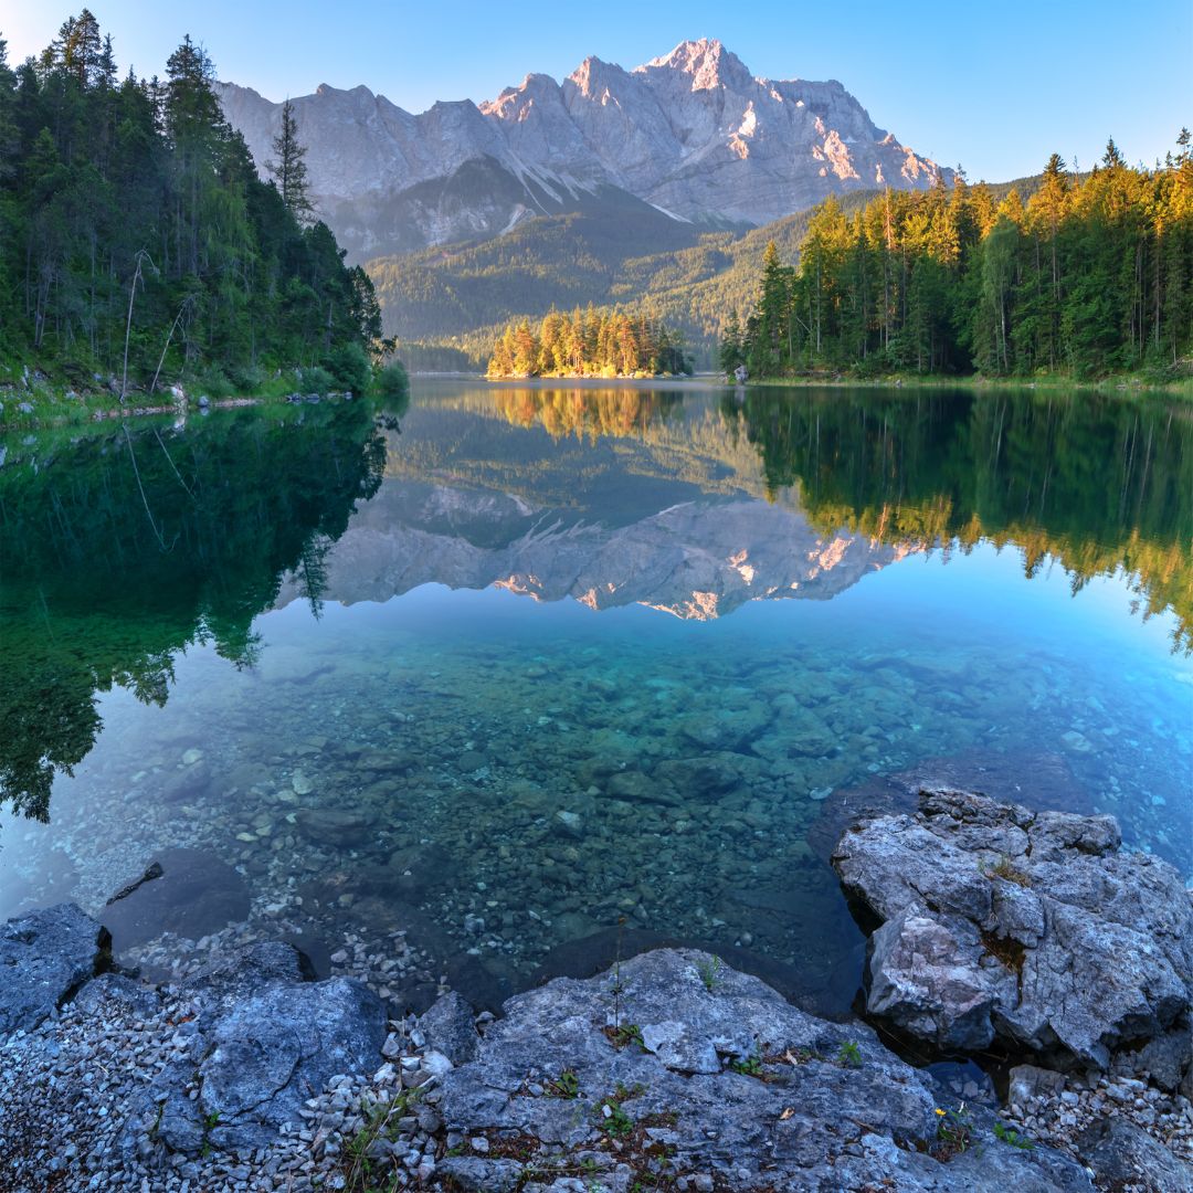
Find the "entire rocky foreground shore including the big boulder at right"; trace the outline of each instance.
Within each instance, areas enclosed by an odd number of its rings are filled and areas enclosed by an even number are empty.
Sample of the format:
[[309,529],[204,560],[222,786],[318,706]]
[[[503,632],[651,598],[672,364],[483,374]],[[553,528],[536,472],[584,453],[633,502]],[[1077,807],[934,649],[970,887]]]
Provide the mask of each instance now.
[[[0,1189],[1193,1188],[1193,934],[1170,867],[1121,853],[1107,817],[944,791],[860,818],[834,864],[884,921],[865,991],[882,1036],[696,950],[556,978],[499,1016],[447,993],[416,1018],[313,981],[288,944],[152,985],[70,904],[10,921]],[[1075,919],[1113,940],[1056,968]],[[979,942],[1043,928],[975,954],[966,923]],[[1009,1087],[915,1068],[888,1028],[938,1058],[993,1047]]]

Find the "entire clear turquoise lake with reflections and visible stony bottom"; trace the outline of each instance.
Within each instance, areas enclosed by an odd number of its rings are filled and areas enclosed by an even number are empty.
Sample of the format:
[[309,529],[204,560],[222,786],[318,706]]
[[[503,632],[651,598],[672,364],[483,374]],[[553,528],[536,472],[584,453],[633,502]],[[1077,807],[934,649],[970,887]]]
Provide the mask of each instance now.
[[920,781],[1193,873],[1191,644],[1158,398],[427,379],[13,437],[0,917],[73,898],[153,975],[403,939],[396,1001],[676,939],[840,1012],[827,854]]

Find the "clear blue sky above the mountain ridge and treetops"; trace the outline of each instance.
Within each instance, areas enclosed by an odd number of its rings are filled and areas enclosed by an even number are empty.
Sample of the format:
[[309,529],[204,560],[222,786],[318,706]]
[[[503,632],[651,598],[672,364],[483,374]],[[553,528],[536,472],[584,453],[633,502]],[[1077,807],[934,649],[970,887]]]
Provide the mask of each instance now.
[[[1056,150],[1088,166],[1113,135],[1152,162],[1193,125],[1189,0],[808,5],[659,0],[92,0],[122,67],[160,72],[190,32],[220,76],[271,99],[365,84],[409,111],[490,99],[583,57],[633,67],[717,37],[756,75],[839,79],[917,153],[991,181]],[[76,7],[0,0],[10,58],[42,49]]]

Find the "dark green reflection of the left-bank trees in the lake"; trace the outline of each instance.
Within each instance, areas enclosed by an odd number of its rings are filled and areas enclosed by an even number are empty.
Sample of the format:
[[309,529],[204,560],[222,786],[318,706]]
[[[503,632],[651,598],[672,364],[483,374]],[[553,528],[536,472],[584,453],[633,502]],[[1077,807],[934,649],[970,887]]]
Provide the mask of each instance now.
[[384,441],[353,403],[20,451],[0,470],[0,797],[44,821],[101,728],[98,692],[162,705],[193,644],[252,665],[286,570],[319,605],[326,544],[381,483]]

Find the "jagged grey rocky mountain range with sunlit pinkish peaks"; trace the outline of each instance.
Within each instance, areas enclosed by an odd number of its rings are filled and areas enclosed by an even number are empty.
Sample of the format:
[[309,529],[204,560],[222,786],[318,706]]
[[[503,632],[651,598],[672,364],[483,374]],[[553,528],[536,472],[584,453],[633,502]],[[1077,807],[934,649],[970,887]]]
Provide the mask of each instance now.
[[[282,105],[233,84],[218,94],[264,168]],[[480,106],[414,116],[366,87],[324,85],[293,107],[319,209],[361,260],[610,208],[756,225],[830,193],[926,187],[941,173],[841,84],[755,79],[707,39],[633,70],[589,57],[562,84],[530,74]]]

